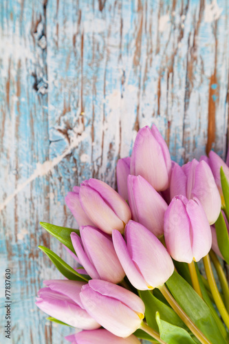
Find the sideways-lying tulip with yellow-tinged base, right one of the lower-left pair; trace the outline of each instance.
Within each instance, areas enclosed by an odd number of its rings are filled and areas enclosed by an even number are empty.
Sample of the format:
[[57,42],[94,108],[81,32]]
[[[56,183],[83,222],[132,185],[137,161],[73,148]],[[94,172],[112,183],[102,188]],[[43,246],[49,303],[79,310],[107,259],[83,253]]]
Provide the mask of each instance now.
[[82,287],[80,300],[88,314],[116,336],[130,336],[144,318],[145,308],[140,297],[100,279],[91,279]]

